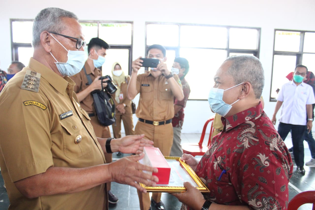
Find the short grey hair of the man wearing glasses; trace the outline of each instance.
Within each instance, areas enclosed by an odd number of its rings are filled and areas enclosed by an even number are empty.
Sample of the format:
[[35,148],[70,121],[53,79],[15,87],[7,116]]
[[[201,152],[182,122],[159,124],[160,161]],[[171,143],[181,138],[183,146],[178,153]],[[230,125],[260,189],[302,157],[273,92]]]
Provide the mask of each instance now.
[[64,9],[49,7],[41,10],[35,17],[33,23],[33,41],[32,46],[40,44],[40,34],[43,31],[52,31],[60,33],[66,29],[61,18],[69,17],[78,20],[77,15]]

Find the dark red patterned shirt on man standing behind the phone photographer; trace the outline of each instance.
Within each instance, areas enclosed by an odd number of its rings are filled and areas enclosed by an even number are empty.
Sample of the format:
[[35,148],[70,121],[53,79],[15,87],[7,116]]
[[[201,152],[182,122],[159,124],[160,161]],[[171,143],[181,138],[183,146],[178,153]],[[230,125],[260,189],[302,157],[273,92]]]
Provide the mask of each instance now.
[[189,94],[190,94],[190,87],[188,82],[185,78],[180,80],[183,92],[184,92],[184,99],[181,101],[178,101],[177,99],[174,100],[174,104],[181,106],[182,108],[178,111],[177,114],[174,115],[172,119],[172,125],[173,127],[182,127],[184,122],[184,108],[186,107],[186,102],[188,100]]

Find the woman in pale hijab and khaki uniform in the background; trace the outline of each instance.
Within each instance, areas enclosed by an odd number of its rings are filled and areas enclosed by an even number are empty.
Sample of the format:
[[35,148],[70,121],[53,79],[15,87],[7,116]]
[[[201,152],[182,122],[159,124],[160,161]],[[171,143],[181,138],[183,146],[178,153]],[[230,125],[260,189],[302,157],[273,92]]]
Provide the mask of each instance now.
[[112,124],[114,138],[121,137],[121,120],[123,120],[126,136],[134,135],[131,100],[127,98],[127,86],[130,76],[125,76],[118,62],[115,62],[112,66],[112,80],[113,84],[117,86],[117,90],[113,94],[116,105],[116,122]]

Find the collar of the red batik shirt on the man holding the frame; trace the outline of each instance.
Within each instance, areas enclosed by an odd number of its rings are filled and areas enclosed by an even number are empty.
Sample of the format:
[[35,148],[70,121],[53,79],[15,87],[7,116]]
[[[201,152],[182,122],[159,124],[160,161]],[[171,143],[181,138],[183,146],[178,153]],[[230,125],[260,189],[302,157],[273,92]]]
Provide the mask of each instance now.
[[225,127],[225,130],[229,131],[236,126],[243,124],[246,121],[249,120],[251,121],[253,119],[259,118],[263,112],[264,111],[261,102],[259,102],[257,106],[243,110],[242,112],[239,112],[227,118],[222,117],[221,120]]

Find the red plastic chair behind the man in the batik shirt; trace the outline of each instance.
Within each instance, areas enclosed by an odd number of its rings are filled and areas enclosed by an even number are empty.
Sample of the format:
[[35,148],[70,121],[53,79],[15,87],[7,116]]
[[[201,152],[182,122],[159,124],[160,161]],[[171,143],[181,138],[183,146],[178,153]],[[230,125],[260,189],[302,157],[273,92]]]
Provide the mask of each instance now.
[[[202,130],[202,133],[201,133],[201,137],[200,137],[200,141],[199,141],[198,144],[191,144],[191,143],[184,143],[184,144],[182,144],[181,147],[183,149],[183,153],[184,154],[190,154],[192,156],[196,156],[196,155],[203,155],[205,152],[207,152],[207,150],[210,148],[211,134],[212,134],[212,132],[214,130],[214,128],[213,128],[213,120],[214,120],[214,116],[210,117],[206,121],[206,123],[204,124],[203,130]],[[207,126],[208,126],[209,122],[211,122],[211,127],[210,127],[208,144],[207,144],[207,146],[202,146],[204,135],[206,134],[206,129],[207,129]]]

